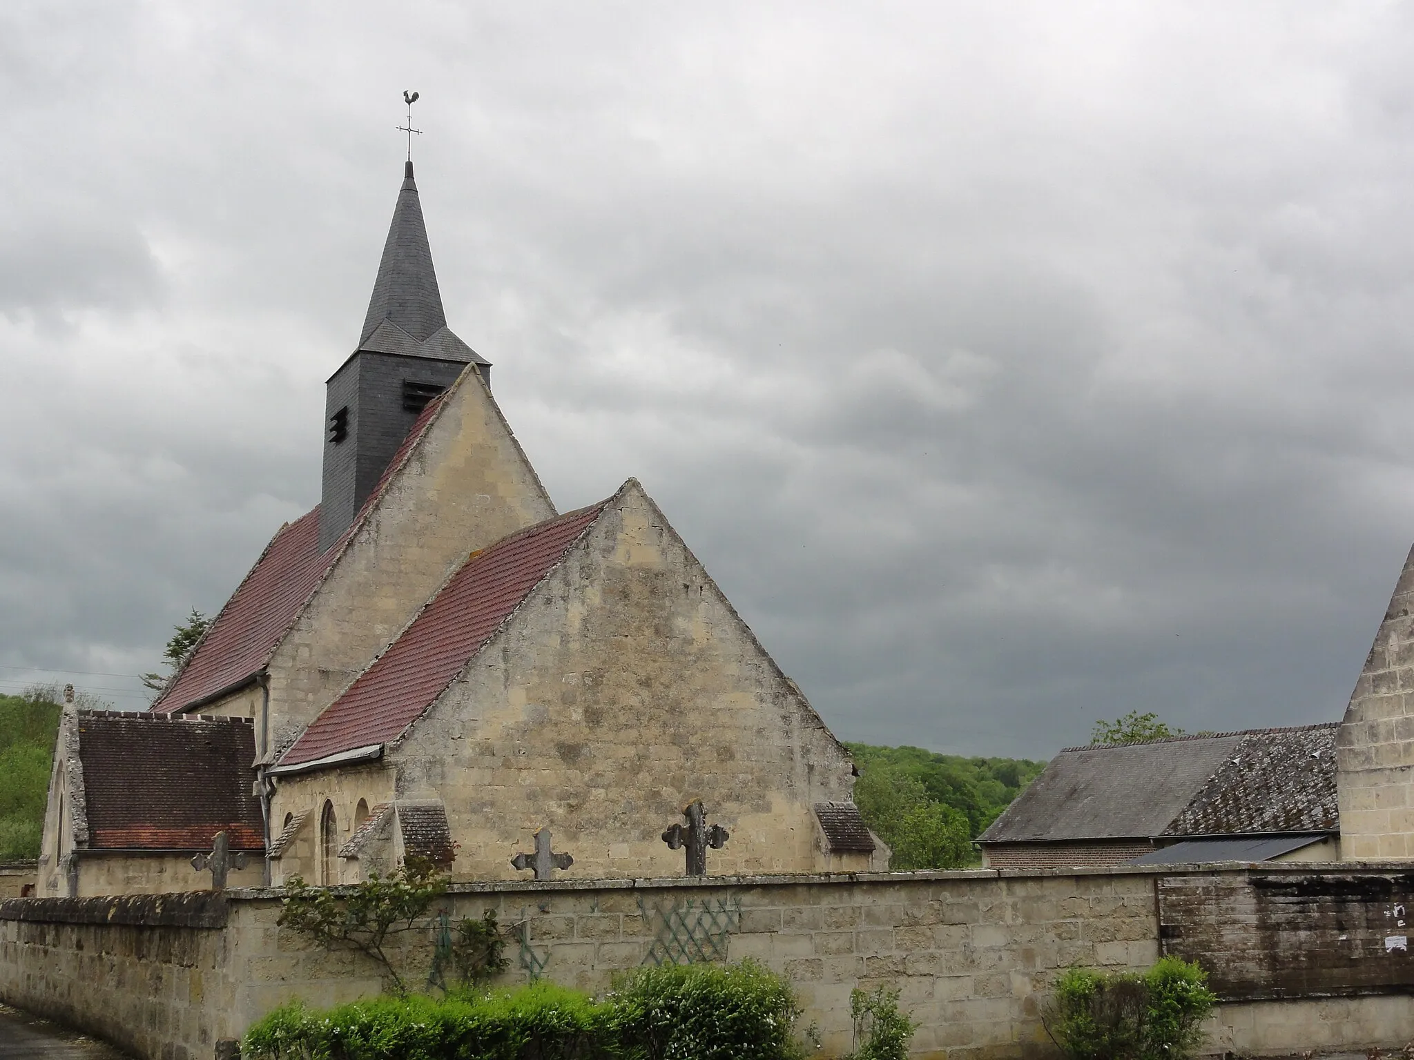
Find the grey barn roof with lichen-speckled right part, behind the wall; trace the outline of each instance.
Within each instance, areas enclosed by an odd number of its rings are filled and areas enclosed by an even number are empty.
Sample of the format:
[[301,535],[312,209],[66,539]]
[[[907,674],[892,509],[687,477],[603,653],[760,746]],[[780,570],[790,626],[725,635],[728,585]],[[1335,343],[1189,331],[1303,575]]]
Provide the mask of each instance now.
[[1336,728],[1066,748],[978,842],[1336,831]]

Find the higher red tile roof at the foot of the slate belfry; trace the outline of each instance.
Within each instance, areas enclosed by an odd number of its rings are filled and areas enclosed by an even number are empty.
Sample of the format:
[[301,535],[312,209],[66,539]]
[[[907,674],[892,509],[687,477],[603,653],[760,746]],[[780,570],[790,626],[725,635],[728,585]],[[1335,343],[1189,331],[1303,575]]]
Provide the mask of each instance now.
[[256,560],[245,581],[226,601],[197,644],[177,680],[157,698],[153,711],[174,714],[239,688],[249,681],[280,644],[310,594],[338,558],[344,544],[363,522],[363,516],[382,496],[389,479],[400,468],[417,440],[427,430],[441,399],[427,403],[402,447],[389,461],[378,486],[369,493],[358,517],[327,551],[320,551],[320,509],[280,527]]

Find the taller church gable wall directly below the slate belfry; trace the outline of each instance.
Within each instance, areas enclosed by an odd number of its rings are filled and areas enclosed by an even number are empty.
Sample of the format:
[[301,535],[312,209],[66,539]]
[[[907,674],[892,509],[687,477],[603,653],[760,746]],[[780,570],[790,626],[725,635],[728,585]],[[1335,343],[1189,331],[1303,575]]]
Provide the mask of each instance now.
[[468,551],[553,514],[501,410],[468,370],[276,649],[267,750],[314,721]]

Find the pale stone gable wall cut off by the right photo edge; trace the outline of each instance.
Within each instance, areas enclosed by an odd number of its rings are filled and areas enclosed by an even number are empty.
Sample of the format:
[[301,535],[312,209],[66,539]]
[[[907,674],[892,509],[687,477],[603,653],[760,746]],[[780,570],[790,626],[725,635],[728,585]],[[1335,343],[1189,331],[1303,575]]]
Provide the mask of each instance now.
[[1414,858],[1414,551],[1336,736],[1340,855]]

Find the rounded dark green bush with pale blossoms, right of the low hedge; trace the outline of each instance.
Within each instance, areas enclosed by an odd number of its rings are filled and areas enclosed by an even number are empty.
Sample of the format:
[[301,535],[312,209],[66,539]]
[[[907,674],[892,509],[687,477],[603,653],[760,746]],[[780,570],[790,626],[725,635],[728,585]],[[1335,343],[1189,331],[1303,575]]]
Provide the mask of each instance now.
[[800,1006],[756,964],[667,964],[619,978],[609,995],[624,1054],[633,1060],[795,1060]]

